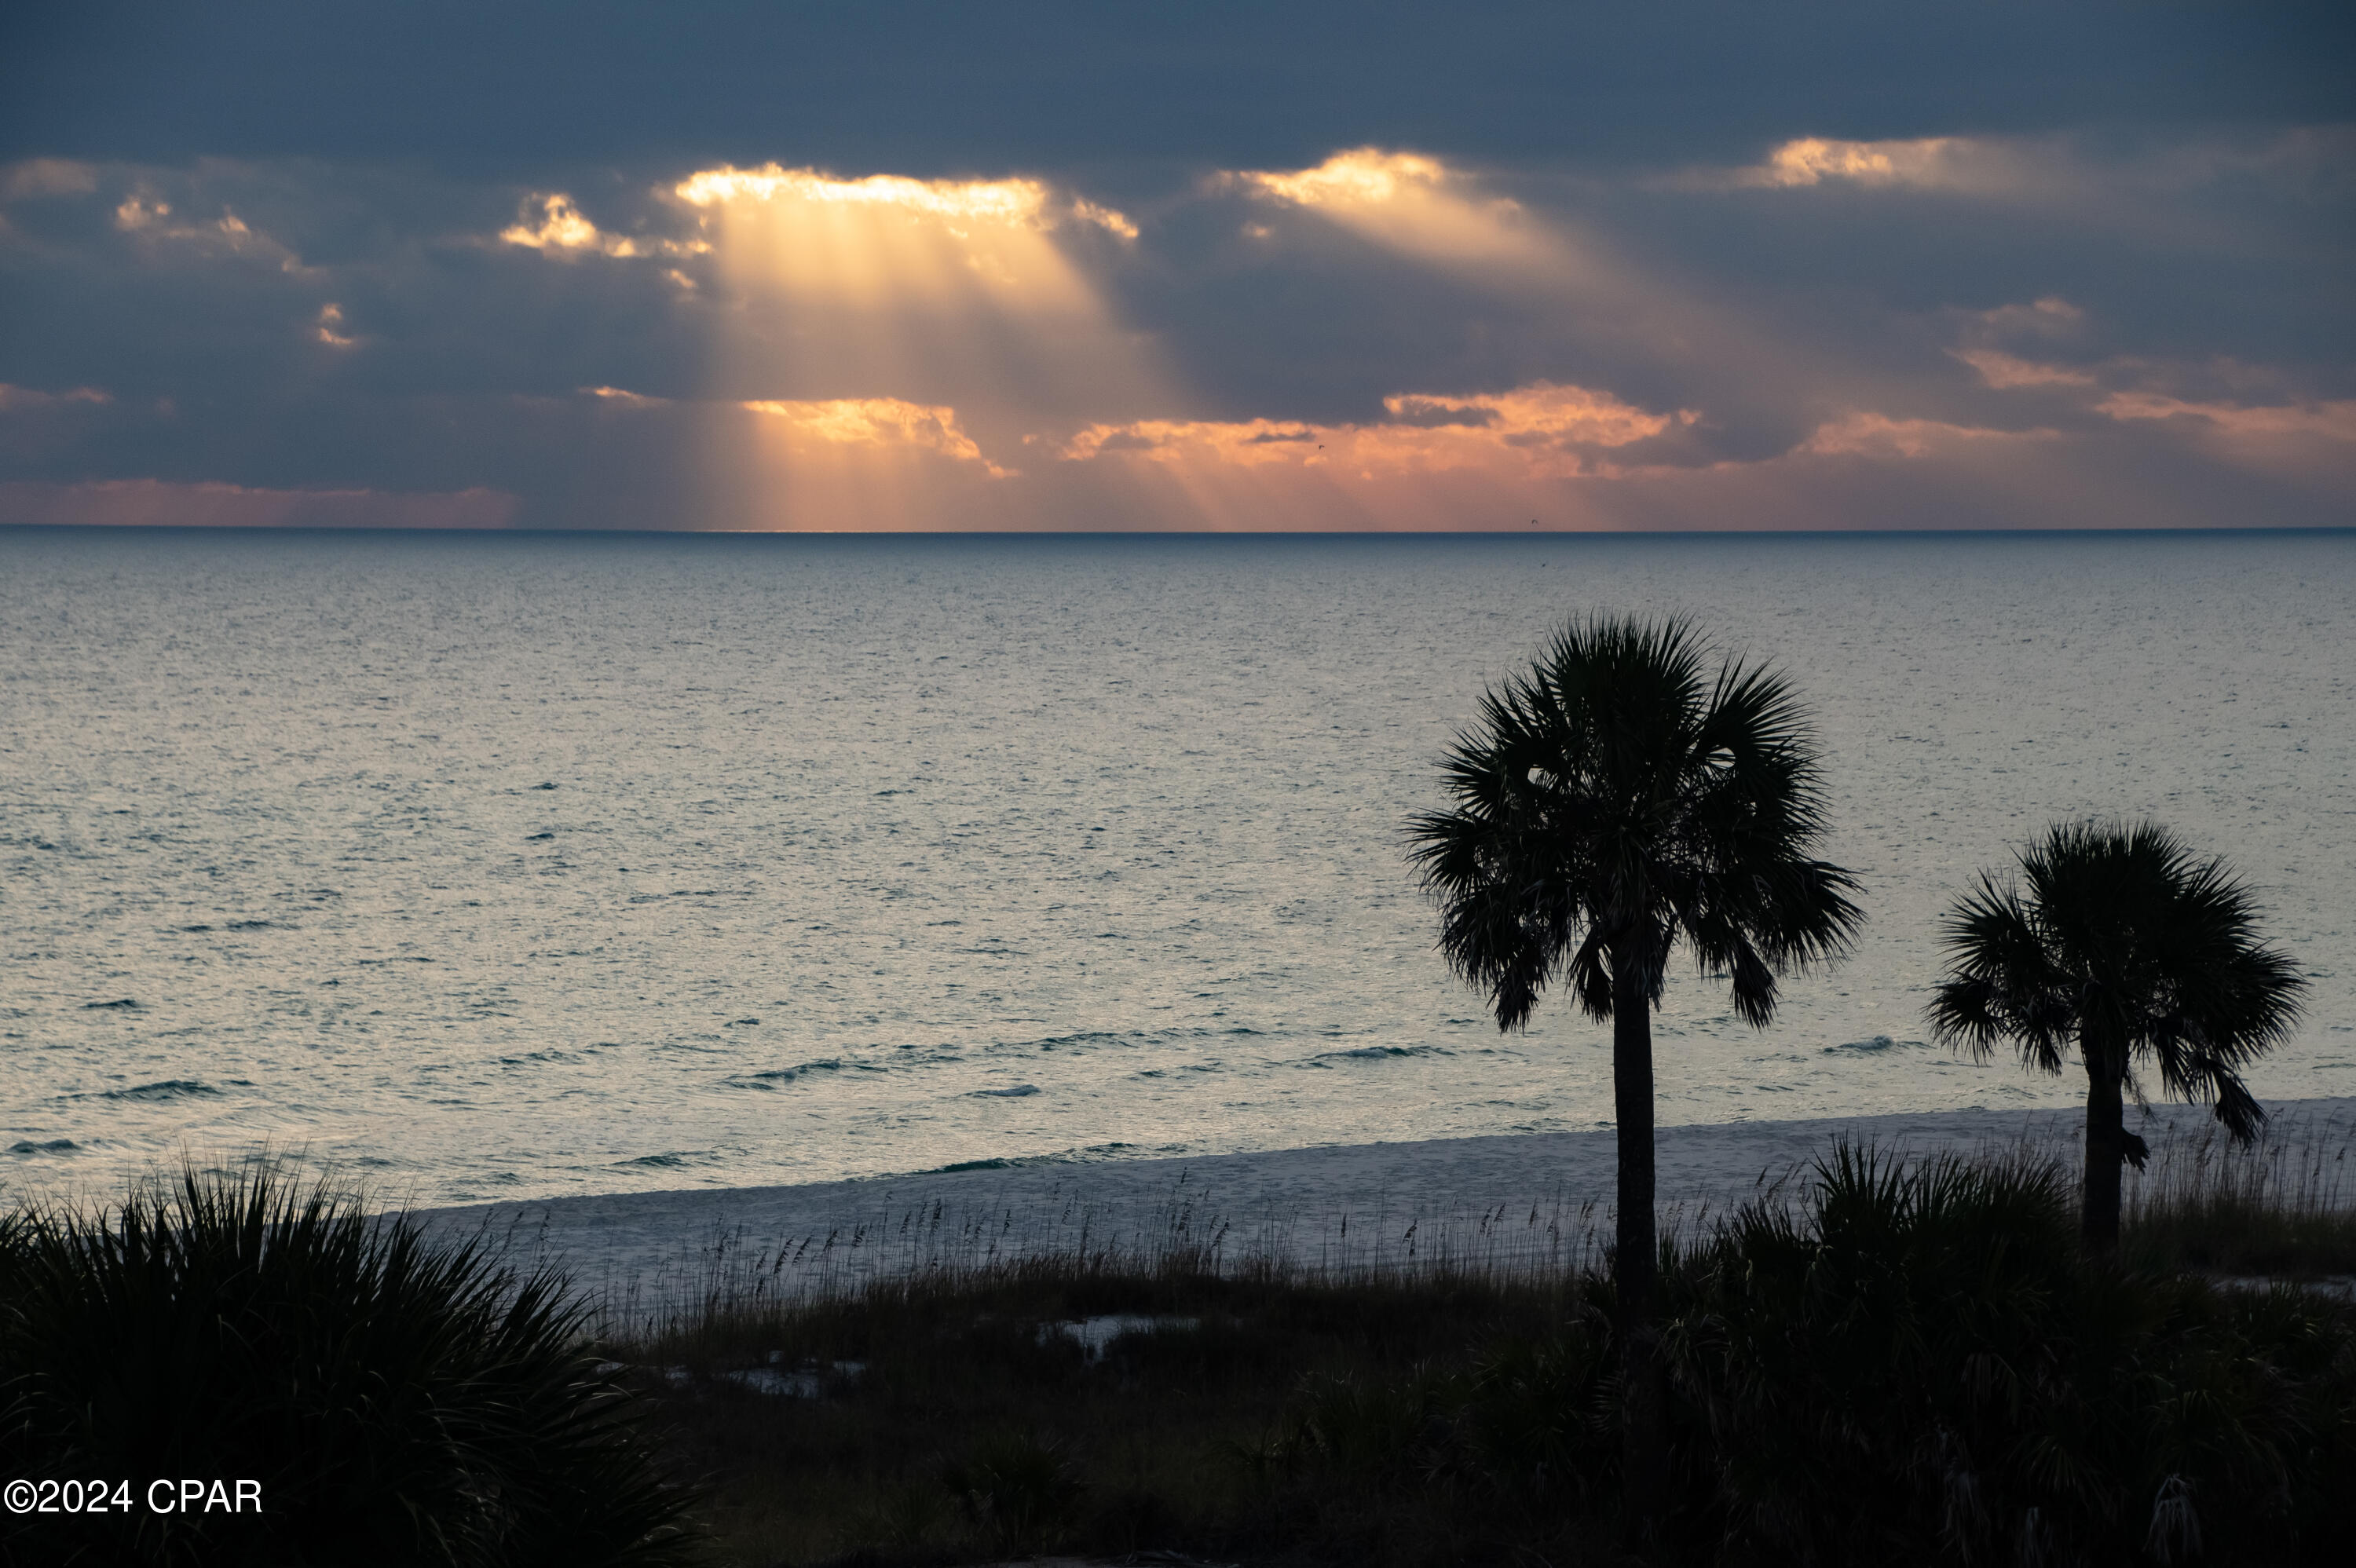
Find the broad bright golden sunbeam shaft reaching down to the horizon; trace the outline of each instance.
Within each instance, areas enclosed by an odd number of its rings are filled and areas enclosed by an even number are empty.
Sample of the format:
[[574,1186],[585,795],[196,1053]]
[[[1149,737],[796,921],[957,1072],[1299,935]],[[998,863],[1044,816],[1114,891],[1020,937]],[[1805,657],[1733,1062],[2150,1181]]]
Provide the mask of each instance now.
[[[907,527],[971,513],[973,480],[1023,438],[1096,410],[1166,407],[1145,339],[1119,330],[1081,257],[1124,214],[1037,179],[834,179],[700,170],[674,198],[714,245],[726,320],[712,391],[721,506],[740,527]],[[884,492],[893,504],[884,504]],[[980,501],[997,516],[1001,501]]]

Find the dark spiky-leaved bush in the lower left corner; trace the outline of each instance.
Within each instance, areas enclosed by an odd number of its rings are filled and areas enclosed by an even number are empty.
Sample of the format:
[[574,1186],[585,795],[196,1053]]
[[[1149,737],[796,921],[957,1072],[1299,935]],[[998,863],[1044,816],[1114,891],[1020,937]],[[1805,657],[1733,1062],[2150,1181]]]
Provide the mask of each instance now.
[[5,1554],[683,1561],[690,1493],[582,1330],[563,1276],[426,1241],[280,1161],[19,1205],[0,1220],[0,1460],[104,1481],[111,1504],[75,1488],[85,1511],[9,1514]]

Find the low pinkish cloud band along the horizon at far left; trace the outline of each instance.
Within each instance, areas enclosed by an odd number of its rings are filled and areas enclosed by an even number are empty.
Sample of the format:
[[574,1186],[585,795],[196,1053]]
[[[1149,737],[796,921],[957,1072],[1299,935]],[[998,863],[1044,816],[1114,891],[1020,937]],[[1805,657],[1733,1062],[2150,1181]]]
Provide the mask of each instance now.
[[521,504],[499,490],[264,490],[151,478],[0,483],[0,523],[42,527],[507,527]]

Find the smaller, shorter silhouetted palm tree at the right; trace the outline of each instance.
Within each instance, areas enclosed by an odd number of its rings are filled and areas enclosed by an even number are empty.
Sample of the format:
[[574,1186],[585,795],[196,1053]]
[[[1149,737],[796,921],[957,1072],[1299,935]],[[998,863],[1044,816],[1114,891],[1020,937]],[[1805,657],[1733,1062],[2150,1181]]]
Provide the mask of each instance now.
[[2224,862],[2196,862],[2168,829],[2062,824],[2019,859],[2019,881],[1981,871],[1948,911],[1948,972],[1930,1024],[1981,1059],[2012,1041],[2024,1064],[2050,1074],[2078,1045],[2078,1227],[2085,1250],[2104,1255],[2118,1250],[2120,1161],[2142,1170],[2149,1156],[2120,1116],[2125,1090],[2142,1102],[2137,1057],[2158,1062],[2170,1095],[2215,1102],[2217,1121],[2248,1144],[2266,1111],[2241,1069],[2290,1036],[2307,982],[2257,944],[2257,911]]

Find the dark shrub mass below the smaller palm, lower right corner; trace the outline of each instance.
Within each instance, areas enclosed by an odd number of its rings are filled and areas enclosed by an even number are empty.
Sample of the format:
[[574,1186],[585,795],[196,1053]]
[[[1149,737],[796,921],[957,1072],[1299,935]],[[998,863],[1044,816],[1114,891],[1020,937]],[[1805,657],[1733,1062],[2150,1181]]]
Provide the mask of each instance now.
[[1857,1563],[2328,1552],[2344,1314],[2083,1262],[2071,1196],[2050,1168],[1840,1147],[1805,1220],[1751,1208],[1687,1260],[1687,1443],[1727,1535]]

